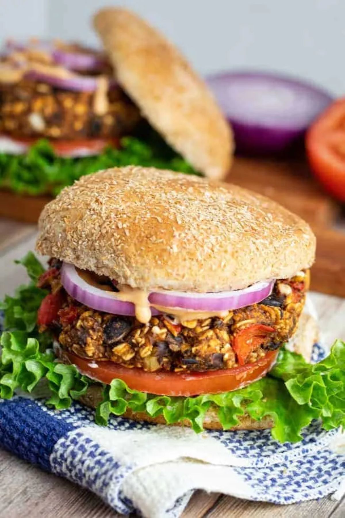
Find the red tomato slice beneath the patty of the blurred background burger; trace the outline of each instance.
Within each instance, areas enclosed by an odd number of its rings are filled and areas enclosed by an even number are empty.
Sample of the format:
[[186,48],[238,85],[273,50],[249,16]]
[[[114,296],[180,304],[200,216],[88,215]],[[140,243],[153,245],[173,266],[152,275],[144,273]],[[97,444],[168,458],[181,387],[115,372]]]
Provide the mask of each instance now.
[[[33,146],[35,142],[37,142],[37,138],[21,138],[21,137],[9,137],[13,142],[18,142],[19,144],[30,148]],[[96,155],[101,153],[106,146],[112,146],[114,148],[120,147],[120,140],[118,138],[85,138],[78,140],[49,140],[50,145],[52,146],[55,153],[59,156],[87,156],[87,155]]]

